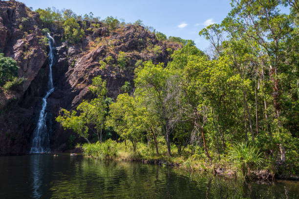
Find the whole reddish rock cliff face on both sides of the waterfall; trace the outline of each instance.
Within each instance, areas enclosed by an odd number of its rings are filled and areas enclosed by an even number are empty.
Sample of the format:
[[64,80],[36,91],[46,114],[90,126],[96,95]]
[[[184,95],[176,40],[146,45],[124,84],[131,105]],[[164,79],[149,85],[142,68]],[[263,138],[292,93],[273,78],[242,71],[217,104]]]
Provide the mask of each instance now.
[[[107,80],[107,95],[115,99],[125,81],[133,83],[137,60],[167,64],[170,56],[166,49],[181,47],[157,40],[153,33],[141,26],[131,25],[111,33],[102,23],[100,25],[94,31],[85,31],[85,38],[73,46],[61,43],[61,28],[50,28],[54,31],[51,35],[54,35],[57,47],[57,61],[52,67],[55,90],[49,96],[46,108],[52,151],[68,149],[68,138],[72,133],[64,131],[55,117],[61,108],[73,110],[82,100],[93,97],[88,87],[94,77]],[[26,78],[18,91],[0,89],[0,155],[22,154],[30,150],[49,73],[41,28],[38,13],[16,1],[0,1],[0,50],[6,57],[17,60],[19,77]],[[101,43],[92,45],[96,39]],[[160,52],[151,51],[153,46],[160,46]],[[119,51],[125,52],[128,58],[123,70],[117,66]],[[108,56],[114,60],[101,69],[99,61]]]

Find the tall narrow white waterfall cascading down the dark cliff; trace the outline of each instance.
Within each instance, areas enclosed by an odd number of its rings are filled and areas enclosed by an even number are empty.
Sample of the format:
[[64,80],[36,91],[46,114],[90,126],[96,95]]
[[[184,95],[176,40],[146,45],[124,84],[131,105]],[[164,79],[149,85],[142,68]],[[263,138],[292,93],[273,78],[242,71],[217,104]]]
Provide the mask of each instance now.
[[53,86],[53,78],[52,78],[52,65],[54,61],[54,54],[56,48],[54,47],[54,39],[50,36],[49,33],[47,33],[47,38],[49,39],[49,80],[48,80],[48,91],[46,95],[43,97],[43,106],[40,112],[40,117],[37,123],[37,127],[35,128],[33,132],[33,139],[32,139],[32,145],[31,145],[31,150],[30,153],[46,153],[50,152],[50,139],[49,139],[49,134],[46,126],[46,116],[47,113],[45,112],[45,108],[47,106],[47,98],[51,93],[54,91],[54,86]]

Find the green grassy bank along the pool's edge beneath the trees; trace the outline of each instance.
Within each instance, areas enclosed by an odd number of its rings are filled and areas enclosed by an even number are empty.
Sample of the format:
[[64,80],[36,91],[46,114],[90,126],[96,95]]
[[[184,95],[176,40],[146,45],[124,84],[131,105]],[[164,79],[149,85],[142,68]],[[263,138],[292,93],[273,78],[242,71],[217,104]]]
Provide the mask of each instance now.
[[[160,141],[162,142],[163,138]],[[253,151],[257,150],[256,148],[242,146],[242,144],[237,146],[239,148],[235,147],[234,149],[232,147],[227,156],[219,157],[220,160],[217,154],[211,154],[212,162],[208,160],[201,148],[192,146],[186,147],[179,154],[177,147],[171,145],[172,156],[167,154],[165,144],[159,144],[159,155],[155,153],[154,146],[150,144],[139,142],[137,151],[134,153],[131,142],[116,142],[110,139],[102,143],[86,143],[77,147],[82,148],[85,157],[92,159],[140,161],[160,164],[161,166],[178,167],[187,171],[205,171],[232,178],[274,179],[275,175],[278,176],[278,168],[271,161],[255,156]],[[279,177],[296,179],[296,175],[280,174]]]

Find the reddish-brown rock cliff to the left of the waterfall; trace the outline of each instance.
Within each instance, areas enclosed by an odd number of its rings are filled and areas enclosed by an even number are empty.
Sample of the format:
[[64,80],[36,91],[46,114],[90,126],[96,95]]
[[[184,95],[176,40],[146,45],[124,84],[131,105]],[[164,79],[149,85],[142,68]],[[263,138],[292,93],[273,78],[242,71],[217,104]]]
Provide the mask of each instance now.
[[[17,61],[19,77],[25,78],[17,91],[0,90],[0,154],[19,154],[28,149],[28,132],[34,125],[33,101],[39,101],[31,97],[43,95],[39,89],[46,74],[41,71],[47,62],[43,38],[37,13],[17,1],[0,1],[0,52]],[[37,89],[32,90],[34,87]],[[24,106],[27,99],[31,106]]]

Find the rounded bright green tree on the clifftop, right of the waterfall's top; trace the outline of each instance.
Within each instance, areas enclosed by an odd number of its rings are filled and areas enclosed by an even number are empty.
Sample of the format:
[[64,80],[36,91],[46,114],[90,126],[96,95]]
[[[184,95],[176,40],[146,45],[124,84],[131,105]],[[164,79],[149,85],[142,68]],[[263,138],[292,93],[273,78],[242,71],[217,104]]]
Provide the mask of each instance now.
[[80,27],[75,18],[69,18],[64,21],[64,39],[71,44],[75,44],[85,36],[84,30]]

